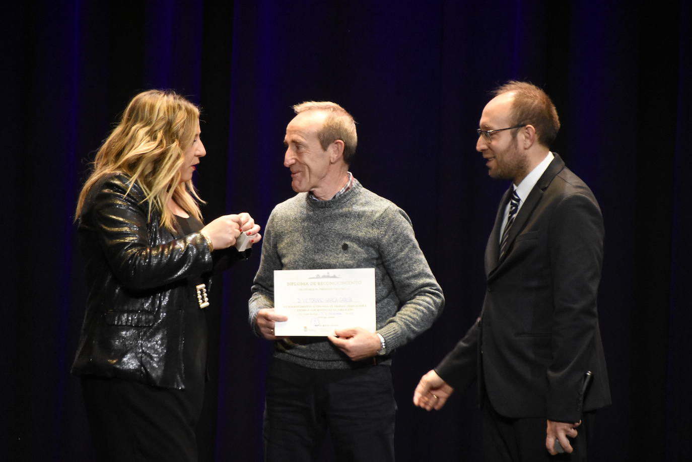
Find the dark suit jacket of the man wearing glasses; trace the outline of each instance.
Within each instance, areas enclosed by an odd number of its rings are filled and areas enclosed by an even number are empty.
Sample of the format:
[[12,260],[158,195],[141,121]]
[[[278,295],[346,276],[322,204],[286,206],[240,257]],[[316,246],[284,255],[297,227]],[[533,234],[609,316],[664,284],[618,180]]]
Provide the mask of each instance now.
[[[498,260],[500,202],[485,252],[477,322],[435,371],[463,389],[478,377],[498,413],[577,422],[610,404],[596,307],[603,218],[591,190],[558,157],[522,204]],[[593,380],[581,396],[586,371]]]

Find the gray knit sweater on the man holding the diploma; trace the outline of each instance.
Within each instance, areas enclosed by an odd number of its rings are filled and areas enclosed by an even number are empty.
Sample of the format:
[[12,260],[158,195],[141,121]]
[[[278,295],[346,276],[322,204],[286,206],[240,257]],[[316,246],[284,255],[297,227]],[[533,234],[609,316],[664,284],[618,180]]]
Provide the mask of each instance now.
[[[377,332],[388,354],[428,329],[444,306],[406,212],[354,181],[328,201],[299,193],[275,206],[249,301],[253,330],[257,311],[274,305],[275,269],[333,268],[375,269]],[[274,356],[311,368],[352,366],[325,337],[276,341]]]

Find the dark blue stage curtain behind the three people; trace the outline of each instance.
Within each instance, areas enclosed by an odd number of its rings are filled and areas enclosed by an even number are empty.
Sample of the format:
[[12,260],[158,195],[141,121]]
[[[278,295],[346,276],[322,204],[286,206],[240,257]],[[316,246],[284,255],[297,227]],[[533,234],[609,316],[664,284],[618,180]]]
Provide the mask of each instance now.
[[[217,4],[218,3],[218,4]],[[475,152],[488,92],[547,89],[554,150],[590,184],[606,226],[599,300],[613,405],[594,460],[680,460],[691,432],[689,1],[45,1],[3,6],[0,459],[89,461],[69,368],[84,310],[73,212],[93,153],[136,92],[203,109],[195,179],[207,219],[264,223],[291,197],[291,105],[333,100],[358,122],[354,175],[404,208],[445,290],[435,326],[397,352],[399,461],[482,459],[475,390],[412,406],[419,377],[477,317],[482,253],[507,184]],[[259,263],[215,283],[201,461],[262,459],[271,345],[247,323]],[[538,442],[540,444],[540,442]],[[325,460],[332,460],[325,445]]]

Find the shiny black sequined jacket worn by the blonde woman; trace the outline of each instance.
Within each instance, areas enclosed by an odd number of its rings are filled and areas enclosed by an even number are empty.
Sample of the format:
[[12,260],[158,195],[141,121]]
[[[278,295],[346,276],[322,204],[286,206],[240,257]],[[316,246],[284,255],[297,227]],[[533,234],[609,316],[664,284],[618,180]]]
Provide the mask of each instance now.
[[211,252],[201,233],[160,226],[156,211],[147,219],[144,193],[128,192],[128,181],[99,181],[79,217],[88,295],[72,373],[184,389],[183,308],[197,305],[197,284],[209,290],[212,271],[247,254]]

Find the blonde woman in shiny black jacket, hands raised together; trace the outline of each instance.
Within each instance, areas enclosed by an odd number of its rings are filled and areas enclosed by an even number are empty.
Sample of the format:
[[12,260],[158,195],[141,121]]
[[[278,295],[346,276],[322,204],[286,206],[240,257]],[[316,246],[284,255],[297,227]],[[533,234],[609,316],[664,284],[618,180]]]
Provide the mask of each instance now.
[[199,109],[171,91],[135,96],[96,154],[75,217],[88,299],[72,371],[99,461],[197,461],[211,274],[258,242],[248,213],[206,226],[192,173]]

